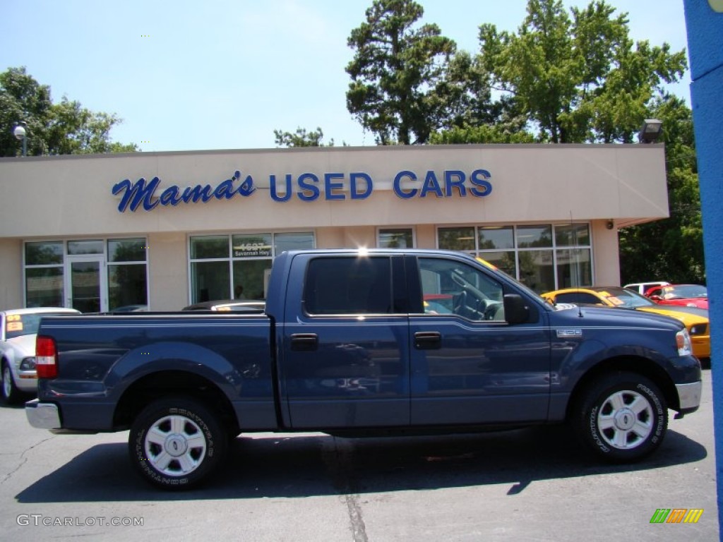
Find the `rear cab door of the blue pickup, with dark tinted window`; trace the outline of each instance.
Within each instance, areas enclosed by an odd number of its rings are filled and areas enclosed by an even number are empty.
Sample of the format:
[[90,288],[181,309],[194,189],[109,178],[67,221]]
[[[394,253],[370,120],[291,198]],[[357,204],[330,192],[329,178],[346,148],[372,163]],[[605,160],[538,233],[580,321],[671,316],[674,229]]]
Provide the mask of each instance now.
[[291,427],[408,425],[403,257],[299,254],[289,276],[278,332]]

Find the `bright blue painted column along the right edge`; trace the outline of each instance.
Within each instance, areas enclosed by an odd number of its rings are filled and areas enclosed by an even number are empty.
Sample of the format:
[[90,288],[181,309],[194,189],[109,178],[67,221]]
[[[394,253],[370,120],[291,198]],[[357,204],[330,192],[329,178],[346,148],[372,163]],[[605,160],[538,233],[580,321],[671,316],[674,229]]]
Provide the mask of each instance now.
[[[723,0],[683,0],[711,317],[718,521],[723,525]],[[723,542],[723,530],[719,527]]]

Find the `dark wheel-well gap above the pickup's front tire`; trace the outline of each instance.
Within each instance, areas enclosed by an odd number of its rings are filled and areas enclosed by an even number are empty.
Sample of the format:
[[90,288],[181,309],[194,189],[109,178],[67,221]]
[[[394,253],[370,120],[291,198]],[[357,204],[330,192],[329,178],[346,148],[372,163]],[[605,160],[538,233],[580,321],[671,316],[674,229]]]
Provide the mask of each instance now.
[[581,396],[585,390],[589,389],[593,382],[596,382],[596,380],[599,380],[607,374],[612,374],[617,371],[637,373],[650,379],[657,387],[660,388],[660,391],[665,397],[668,408],[672,408],[672,410],[677,410],[677,408],[679,408],[680,405],[677,390],[675,389],[675,382],[672,381],[661,366],[648,358],[619,356],[600,362],[589,369],[589,371],[587,371],[583,377],[578,380],[573,388],[573,391],[570,393],[568,407],[565,411],[565,419],[570,419],[570,416],[572,416],[573,410],[579,403]]

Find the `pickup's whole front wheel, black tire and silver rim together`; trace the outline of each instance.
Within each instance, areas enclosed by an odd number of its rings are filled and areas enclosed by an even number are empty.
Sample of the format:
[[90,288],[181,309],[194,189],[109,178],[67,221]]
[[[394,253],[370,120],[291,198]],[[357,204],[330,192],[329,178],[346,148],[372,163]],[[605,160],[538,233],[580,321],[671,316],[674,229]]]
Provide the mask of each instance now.
[[641,460],[662,444],[668,426],[665,397],[635,373],[608,374],[583,392],[573,411],[576,432],[598,457]]

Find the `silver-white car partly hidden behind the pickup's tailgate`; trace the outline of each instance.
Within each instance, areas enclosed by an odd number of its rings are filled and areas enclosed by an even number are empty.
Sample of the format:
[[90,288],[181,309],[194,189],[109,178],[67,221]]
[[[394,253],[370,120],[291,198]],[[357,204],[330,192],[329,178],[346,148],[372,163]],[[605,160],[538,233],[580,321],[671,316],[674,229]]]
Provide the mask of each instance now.
[[75,309],[36,307],[0,311],[0,377],[2,397],[6,403],[17,403],[22,395],[35,393],[35,334],[43,315],[80,314]]

